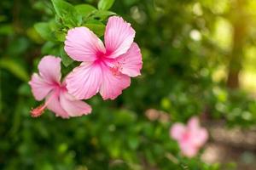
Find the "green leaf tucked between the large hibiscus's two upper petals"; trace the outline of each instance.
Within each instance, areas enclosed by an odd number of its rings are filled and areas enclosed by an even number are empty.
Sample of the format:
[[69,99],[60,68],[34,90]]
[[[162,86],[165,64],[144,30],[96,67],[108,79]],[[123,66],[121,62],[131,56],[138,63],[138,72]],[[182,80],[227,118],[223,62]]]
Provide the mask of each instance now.
[[105,32],[105,25],[102,24],[102,22],[98,20],[89,20],[86,24],[83,26],[86,26],[91,31],[93,31],[98,37],[102,37]]

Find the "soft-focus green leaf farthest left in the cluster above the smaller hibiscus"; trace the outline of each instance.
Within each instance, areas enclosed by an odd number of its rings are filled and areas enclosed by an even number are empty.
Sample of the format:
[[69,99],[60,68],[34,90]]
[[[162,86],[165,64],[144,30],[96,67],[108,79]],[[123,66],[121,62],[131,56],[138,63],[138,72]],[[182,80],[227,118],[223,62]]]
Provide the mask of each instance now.
[[44,40],[55,41],[48,23],[39,22],[34,25],[34,28],[36,29],[38,34],[44,38]]

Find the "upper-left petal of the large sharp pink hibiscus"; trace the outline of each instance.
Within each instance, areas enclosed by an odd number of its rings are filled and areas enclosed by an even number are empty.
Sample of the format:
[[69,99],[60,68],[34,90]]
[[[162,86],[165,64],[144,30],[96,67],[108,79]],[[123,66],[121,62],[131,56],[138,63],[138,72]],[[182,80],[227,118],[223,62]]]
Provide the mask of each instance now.
[[94,61],[105,48],[96,35],[87,27],[75,27],[67,32],[64,47],[66,53],[77,61]]

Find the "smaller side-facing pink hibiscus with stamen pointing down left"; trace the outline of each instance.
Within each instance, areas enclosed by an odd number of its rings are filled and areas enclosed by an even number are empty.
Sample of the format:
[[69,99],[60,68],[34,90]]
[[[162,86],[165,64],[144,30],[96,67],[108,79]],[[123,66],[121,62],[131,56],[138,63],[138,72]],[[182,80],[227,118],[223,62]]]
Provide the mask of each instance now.
[[45,56],[38,65],[39,74],[34,73],[29,82],[35,99],[45,99],[44,105],[40,105],[31,111],[32,116],[40,116],[47,107],[55,112],[56,116],[68,118],[70,116],[82,116],[90,113],[90,105],[81,100],[74,99],[67,93],[66,82],[61,83],[61,59],[54,56]]

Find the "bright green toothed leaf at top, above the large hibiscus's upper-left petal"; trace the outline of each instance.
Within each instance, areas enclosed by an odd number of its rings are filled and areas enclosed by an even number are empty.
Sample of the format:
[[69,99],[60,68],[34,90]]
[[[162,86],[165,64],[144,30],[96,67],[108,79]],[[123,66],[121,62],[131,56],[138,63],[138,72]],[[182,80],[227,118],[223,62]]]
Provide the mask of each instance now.
[[79,23],[79,14],[70,3],[63,0],[51,0],[55,8],[56,14],[60,17],[61,24],[77,26]]

